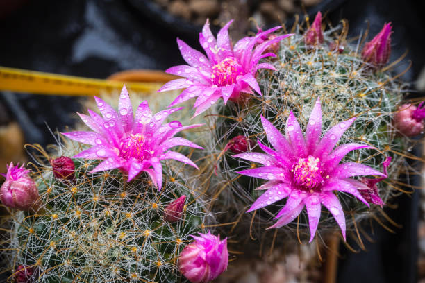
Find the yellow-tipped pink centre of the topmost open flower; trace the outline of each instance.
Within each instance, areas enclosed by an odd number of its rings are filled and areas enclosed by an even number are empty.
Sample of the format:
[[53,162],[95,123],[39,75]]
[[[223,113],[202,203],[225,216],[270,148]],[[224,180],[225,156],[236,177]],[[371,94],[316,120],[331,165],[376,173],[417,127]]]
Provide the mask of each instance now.
[[211,80],[213,84],[223,87],[236,83],[236,78],[243,74],[242,66],[234,57],[228,57],[213,66]]

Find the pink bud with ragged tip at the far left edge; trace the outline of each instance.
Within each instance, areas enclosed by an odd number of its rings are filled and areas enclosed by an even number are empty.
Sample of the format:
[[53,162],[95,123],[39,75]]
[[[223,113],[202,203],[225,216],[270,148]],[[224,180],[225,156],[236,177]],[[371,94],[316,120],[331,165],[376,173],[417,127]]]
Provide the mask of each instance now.
[[6,177],[0,189],[0,200],[7,207],[19,210],[28,210],[38,200],[38,188],[33,179],[28,176],[29,170],[24,168],[24,164],[13,166],[10,162],[8,172],[1,174]]

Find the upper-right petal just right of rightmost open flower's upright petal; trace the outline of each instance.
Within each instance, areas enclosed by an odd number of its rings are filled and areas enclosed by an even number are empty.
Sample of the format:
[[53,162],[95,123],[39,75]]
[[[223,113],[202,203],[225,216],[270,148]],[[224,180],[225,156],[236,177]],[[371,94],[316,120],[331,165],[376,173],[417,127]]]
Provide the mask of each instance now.
[[338,123],[337,125],[333,126],[331,130],[328,130],[317,146],[314,155],[319,158],[328,155],[332,151],[335,144],[340,141],[340,138],[349,128],[349,126],[351,126],[354,120],[356,120],[356,117]]

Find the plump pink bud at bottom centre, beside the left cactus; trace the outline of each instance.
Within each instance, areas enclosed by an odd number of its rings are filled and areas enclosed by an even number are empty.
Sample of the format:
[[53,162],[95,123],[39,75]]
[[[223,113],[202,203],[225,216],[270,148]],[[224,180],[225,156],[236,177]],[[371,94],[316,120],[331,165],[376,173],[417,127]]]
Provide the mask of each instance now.
[[178,269],[192,283],[206,283],[218,277],[227,268],[227,239],[199,233],[195,241],[185,246],[178,257]]

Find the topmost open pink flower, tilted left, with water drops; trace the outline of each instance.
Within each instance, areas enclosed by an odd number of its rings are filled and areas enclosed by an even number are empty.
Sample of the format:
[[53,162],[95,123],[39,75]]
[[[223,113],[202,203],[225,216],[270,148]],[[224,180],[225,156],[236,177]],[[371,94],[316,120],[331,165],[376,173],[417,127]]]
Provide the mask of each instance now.
[[[244,37],[235,46],[228,36],[228,22],[217,34],[217,39],[210,30],[208,20],[199,33],[199,42],[206,52],[203,55],[185,42],[177,39],[181,55],[189,65],[179,65],[167,69],[167,73],[182,76],[166,83],[158,92],[171,89],[185,90],[172,102],[173,106],[197,96],[194,103],[194,116],[210,108],[219,98],[224,104],[228,99],[239,101],[247,94],[257,92],[261,95],[260,87],[255,78],[258,69],[276,70],[269,63],[260,63],[262,58],[275,57],[274,53],[264,53],[272,44],[283,40],[290,35],[280,35],[272,40],[266,40],[256,46],[258,40],[276,31],[278,26],[258,33],[254,37]],[[254,48],[254,46],[256,46]]]

